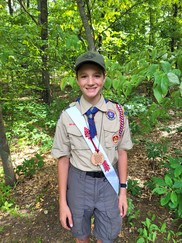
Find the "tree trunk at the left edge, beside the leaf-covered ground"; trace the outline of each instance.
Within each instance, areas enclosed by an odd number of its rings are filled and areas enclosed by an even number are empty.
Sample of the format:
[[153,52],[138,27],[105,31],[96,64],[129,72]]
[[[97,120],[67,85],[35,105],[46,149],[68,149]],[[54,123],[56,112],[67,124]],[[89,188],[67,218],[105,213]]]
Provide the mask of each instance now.
[[8,146],[8,142],[6,140],[1,107],[0,107],[0,157],[3,163],[5,183],[6,185],[13,186],[16,182],[16,177],[11,163],[10,149]]

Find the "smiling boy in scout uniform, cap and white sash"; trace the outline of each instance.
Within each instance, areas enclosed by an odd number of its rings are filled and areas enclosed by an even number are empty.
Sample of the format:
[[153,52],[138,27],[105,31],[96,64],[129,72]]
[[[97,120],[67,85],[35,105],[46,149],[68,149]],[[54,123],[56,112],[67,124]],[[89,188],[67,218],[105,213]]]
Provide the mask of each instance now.
[[132,148],[122,106],[102,95],[103,57],[86,52],[75,64],[82,96],[61,113],[52,154],[58,159],[61,225],[88,243],[112,243],[127,213],[127,150]]

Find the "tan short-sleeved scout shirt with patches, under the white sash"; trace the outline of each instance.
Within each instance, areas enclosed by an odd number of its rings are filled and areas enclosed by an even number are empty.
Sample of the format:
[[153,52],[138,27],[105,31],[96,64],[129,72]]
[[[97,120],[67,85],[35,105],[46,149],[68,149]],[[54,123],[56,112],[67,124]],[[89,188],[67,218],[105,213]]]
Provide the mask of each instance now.
[[[81,114],[92,107],[83,96],[80,102],[72,103],[70,106],[76,105]],[[94,121],[97,129],[97,138],[105,150],[110,162],[114,165],[118,161],[118,150],[129,150],[132,148],[128,119],[124,117],[124,129],[121,138],[118,140],[120,119],[116,104],[104,100],[101,96],[100,101],[95,105],[99,111],[95,114]],[[111,119],[107,112],[112,111],[115,114],[114,119]],[[86,115],[84,115],[87,120]],[[52,155],[55,158],[68,156],[70,163],[82,171],[99,171],[99,166],[91,163],[92,152],[88,147],[80,130],[76,127],[66,111],[63,111],[58,120],[56,133],[54,137]]]

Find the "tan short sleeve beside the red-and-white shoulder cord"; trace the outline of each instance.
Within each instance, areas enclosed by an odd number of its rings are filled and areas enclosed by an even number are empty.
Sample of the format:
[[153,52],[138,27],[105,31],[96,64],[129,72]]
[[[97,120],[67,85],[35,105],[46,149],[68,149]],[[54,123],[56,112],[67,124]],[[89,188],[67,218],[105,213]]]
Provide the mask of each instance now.
[[118,144],[118,150],[130,150],[132,147],[133,147],[133,143],[131,140],[129,122],[128,122],[128,118],[125,116],[124,129],[123,129],[121,141]]

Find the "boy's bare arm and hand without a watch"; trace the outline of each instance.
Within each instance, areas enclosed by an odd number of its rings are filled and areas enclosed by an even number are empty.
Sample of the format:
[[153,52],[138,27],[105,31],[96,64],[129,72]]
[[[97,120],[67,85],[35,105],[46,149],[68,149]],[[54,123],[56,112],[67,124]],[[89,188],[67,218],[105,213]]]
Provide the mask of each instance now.
[[[66,200],[68,182],[69,158],[64,156],[58,159],[58,190],[59,190],[59,219],[61,225],[70,230],[73,226],[71,211]],[[69,226],[67,224],[67,220]]]

